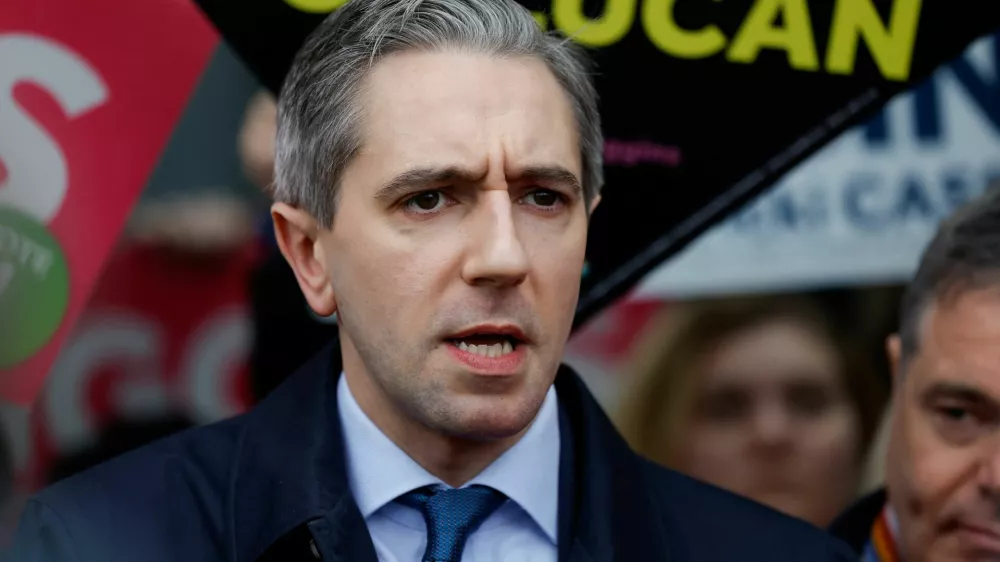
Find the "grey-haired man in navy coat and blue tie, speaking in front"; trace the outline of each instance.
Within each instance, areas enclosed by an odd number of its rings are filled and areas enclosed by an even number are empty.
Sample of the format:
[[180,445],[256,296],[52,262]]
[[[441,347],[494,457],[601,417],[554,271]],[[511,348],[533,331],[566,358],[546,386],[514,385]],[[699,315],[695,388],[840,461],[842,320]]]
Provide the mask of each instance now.
[[246,416],[43,491],[16,560],[845,560],[635,455],[561,359],[603,183],[587,60],[513,0],[353,0],[279,103],[327,348]]

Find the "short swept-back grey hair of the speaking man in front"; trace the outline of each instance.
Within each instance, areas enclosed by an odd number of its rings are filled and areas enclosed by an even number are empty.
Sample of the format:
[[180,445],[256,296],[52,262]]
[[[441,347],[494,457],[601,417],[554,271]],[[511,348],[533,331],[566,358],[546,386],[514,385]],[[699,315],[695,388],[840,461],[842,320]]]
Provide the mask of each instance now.
[[333,224],[344,169],[362,146],[363,80],[384,57],[462,49],[545,62],[577,122],[589,203],[604,182],[603,137],[589,61],[574,43],[545,33],[514,0],[351,0],[306,40],[278,103],[273,197]]

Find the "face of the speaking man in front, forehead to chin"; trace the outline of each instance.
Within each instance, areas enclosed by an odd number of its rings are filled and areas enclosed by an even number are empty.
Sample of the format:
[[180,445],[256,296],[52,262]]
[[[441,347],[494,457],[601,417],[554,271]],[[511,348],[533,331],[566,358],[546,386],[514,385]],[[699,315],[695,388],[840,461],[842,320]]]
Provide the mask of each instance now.
[[555,376],[584,261],[567,96],[540,61],[450,52],[390,56],[366,86],[363,148],[317,244],[345,370],[434,431],[515,435]]

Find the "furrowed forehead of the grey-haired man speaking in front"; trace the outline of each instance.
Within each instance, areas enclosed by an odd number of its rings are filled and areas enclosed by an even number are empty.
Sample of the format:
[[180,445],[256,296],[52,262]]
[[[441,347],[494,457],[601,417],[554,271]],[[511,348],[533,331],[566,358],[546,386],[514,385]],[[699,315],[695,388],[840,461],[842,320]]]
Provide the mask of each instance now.
[[542,61],[401,53],[367,79],[358,159],[382,182],[435,166],[482,171],[497,186],[530,165],[581,175],[572,107]]

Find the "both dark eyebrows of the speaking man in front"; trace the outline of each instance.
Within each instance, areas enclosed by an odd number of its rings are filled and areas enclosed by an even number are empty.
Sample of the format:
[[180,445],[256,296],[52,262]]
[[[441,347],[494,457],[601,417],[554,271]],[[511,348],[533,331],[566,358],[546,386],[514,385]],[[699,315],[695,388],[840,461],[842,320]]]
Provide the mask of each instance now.
[[[476,183],[482,181],[484,173],[459,168],[457,166],[414,168],[387,181],[375,193],[375,199],[393,201],[414,190],[428,189],[447,183]],[[580,180],[573,172],[558,165],[526,166],[517,170],[512,181],[539,181],[557,183],[579,194],[583,190]]]

